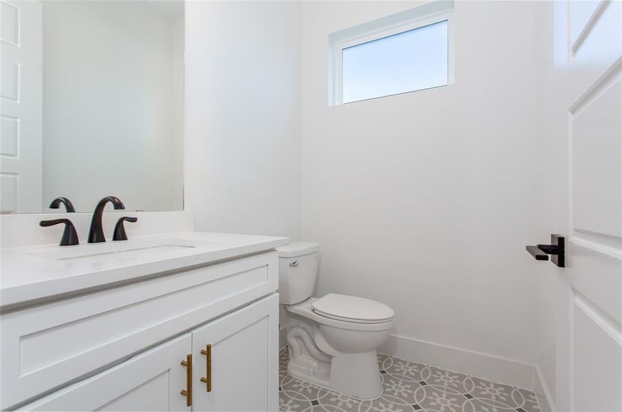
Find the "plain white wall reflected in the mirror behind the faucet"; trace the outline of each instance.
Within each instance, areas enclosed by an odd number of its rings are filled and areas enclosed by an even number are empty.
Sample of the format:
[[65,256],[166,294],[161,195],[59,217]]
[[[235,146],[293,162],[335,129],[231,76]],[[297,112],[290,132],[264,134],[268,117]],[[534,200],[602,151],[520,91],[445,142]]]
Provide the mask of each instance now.
[[44,211],[56,196],[92,211],[110,194],[130,210],[182,208],[175,38],[140,1],[43,2]]

